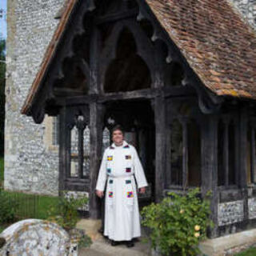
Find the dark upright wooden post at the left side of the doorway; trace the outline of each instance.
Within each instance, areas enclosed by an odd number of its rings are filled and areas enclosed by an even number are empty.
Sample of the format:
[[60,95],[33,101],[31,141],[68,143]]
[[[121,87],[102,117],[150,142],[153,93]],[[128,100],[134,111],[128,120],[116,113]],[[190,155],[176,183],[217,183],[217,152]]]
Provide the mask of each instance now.
[[102,158],[102,104],[90,103],[90,218],[100,218],[99,198],[95,194]]

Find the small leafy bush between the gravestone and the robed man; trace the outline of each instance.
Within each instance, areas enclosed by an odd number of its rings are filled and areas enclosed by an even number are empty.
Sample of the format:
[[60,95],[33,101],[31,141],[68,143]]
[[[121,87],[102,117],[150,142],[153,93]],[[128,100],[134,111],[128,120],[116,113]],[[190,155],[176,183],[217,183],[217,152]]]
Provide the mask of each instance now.
[[[66,190],[63,190],[66,194]],[[50,206],[49,218],[51,222],[58,223],[59,226],[62,226],[66,230],[70,230],[76,226],[78,222],[78,207],[86,204],[89,198],[74,198],[73,195],[70,195],[69,198],[62,196],[59,198],[57,206]]]

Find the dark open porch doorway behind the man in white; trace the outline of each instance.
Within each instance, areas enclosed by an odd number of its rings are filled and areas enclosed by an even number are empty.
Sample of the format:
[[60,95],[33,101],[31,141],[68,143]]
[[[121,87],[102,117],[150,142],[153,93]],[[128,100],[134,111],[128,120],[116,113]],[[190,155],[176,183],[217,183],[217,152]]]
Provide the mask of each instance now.
[[[133,145],[142,162],[146,194],[138,194],[140,208],[154,202],[155,127],[154,110],[149,99],[129,99],[105,103],[104,126],[109,130],[117,124],[125,130],[124,137]],[[110,135],[110,144],[112,143]]]

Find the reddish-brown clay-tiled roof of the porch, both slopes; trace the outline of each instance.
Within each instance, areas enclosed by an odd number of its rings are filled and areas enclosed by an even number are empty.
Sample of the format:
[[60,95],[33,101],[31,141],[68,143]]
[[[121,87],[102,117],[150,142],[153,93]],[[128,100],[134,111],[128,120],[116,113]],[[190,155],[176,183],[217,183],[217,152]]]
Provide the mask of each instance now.
[[[145,1],[207,88],[221,96],[256,99],[256,34],[228,0]],[[22,114],[30,109],[76,2],[64,4]]]

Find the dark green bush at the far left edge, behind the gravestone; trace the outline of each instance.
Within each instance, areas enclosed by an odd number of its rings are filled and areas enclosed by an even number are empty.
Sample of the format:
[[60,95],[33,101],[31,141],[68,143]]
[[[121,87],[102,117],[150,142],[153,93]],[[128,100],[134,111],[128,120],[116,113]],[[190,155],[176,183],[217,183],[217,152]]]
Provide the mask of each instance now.
[[0,187],[0,224],[15,222],[17,208],[18,202],[14,198],[10,198]]

